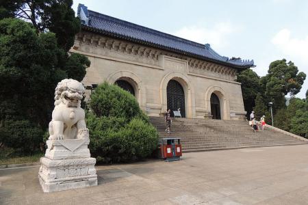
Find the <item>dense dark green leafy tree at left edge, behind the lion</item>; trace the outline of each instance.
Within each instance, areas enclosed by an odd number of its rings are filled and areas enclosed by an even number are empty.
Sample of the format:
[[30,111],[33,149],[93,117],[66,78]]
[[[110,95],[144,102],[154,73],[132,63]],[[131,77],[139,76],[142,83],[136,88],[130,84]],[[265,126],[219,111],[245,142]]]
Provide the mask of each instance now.
[[57,82],[66,77],[54,33],[17,18],[0,20],[0,120],[28,119],[47,126]]

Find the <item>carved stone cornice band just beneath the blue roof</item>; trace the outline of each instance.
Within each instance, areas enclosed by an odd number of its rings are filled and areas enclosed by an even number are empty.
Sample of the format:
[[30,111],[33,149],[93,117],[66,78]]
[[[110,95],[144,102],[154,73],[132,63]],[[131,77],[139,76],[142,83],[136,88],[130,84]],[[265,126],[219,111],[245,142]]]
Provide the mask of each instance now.
[[[83,48],[83,46],[90,46],[90,48]],[[136,44],[133,42],[118,40],[109,36],[101,36],[96,33],[81,31],[75,38],[73,49],[90,52],[97,55],[110,55],[110,57],[120,57],[129,59],[131,61],[139,61],[145,64],[158,66],[158,56],[167,55],[188,61],[189,72],[195,74],[205,74],[214,77],[221,77],[234,81],[236,79],[237,70],[228,66],[215,64],[201,59],[179,55],[177,53],[170,53],[154,49],[149,46]]]

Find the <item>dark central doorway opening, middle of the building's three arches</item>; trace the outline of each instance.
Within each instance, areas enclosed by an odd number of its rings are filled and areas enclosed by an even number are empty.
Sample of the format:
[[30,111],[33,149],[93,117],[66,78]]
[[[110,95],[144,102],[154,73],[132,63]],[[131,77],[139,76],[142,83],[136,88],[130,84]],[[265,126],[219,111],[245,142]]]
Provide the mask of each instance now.
[[167,108],[172,111],[181,110],[182,118],[185,118],[185,94],[182,85],[175,80],[170,80],[167,85]]

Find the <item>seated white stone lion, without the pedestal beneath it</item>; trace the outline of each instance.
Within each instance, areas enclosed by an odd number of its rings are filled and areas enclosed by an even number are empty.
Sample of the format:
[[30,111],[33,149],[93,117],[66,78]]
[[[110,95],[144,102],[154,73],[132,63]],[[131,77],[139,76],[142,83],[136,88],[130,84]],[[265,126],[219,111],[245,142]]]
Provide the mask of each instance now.
[[80,107],[84,85],[73,79],[64,79],[55,87],[55,109],[49,123],[49,139],[86,139],[89,137]]

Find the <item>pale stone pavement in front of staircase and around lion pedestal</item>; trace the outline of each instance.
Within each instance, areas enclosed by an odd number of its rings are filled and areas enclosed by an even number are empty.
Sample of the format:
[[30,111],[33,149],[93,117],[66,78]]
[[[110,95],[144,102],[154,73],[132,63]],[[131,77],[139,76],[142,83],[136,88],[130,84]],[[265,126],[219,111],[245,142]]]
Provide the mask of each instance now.
[[38,168],[0,169],[0,204],[308,204],[308,145],[97,166],[97,187],[56,193]]

